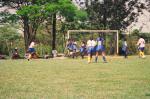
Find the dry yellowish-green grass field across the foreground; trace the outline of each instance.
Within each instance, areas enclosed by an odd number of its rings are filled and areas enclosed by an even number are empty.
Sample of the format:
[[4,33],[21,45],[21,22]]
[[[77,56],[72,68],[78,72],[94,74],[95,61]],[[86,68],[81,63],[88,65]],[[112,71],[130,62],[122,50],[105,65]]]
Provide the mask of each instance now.
[[0,99],[150,99],[150,56],[0,60]]

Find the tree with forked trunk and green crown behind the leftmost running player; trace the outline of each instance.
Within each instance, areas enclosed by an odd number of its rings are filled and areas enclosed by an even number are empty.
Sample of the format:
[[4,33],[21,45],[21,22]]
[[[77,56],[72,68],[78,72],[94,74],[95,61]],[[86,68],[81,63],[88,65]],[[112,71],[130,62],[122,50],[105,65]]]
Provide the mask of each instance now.
[[23,22],[25,48],[27,49],[29,44],[35,40],[37,29],[43,22],[41,6],[36,4],[23,6],[17,11],[17,14],[20,15]]

